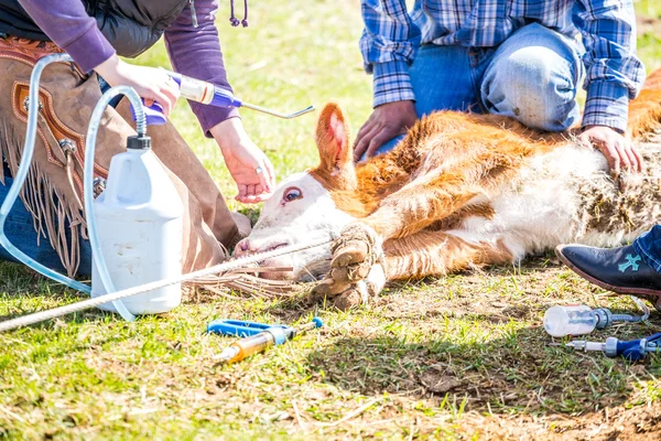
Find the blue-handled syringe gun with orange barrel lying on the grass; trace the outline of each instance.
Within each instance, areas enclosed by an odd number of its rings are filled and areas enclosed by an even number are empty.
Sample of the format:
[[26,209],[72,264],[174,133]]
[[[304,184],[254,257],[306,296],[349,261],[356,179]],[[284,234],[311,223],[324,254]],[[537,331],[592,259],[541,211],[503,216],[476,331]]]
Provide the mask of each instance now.
[[314,318],[312,322],[299,327],[238,320],[215,320],[208,324],[207,332],[242,337],[214,357],[214,359],[220,363],[236,363],[253,354],[263,352],[270,346],[281,345],[305,331],[322,327],[323,324],[324,322],[319,318]]

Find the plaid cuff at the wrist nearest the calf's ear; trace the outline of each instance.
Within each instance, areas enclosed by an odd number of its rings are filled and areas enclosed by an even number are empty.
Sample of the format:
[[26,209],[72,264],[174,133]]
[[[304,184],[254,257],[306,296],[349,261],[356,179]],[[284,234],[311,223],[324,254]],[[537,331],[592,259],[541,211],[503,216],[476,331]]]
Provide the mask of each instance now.
[[402,61],[373,64],[373,107],[393,101],[414,101],[415,94],[409,76],[409,64]]

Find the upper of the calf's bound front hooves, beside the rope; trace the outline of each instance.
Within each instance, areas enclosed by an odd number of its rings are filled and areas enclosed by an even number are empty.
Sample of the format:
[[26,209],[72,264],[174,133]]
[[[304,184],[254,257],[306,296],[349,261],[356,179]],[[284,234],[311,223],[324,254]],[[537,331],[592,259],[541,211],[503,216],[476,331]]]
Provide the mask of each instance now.
[[381,238],[367,225],[345,228],[333,245],[330,277],[338,283],[357,282],[367,278],[375,263],[383,262]]

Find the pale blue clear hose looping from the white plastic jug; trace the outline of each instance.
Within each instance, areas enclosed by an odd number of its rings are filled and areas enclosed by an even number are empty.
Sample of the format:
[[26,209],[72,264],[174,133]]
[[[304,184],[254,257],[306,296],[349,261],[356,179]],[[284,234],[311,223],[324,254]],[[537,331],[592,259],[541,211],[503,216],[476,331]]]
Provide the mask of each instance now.
[[[30,93],[28,96],[28,128],[25,130],[25,144],[23,146],[23,154],[21,157],[21,162],[19,163],[19,169],[13,176],[13,182],[9,189],[7,197],[2,201],[2,205],[0,206],[0,245],[7,249],[7,251],[12,255],[17,260],[32,268],[33,270],[40,272],[41,275],[53,279],[59,283],[63,283],[76,291],[84,292],[86,294],[91,293],[91,288],[85,283],[80,283],[77,280],[71,279],[66,276],[61,275],[57,271],[53,271],[52,269],[41,265],[30,256],[25,255],[23,251],[18,249],[7,237],[4,234],[4,224],[7,222],[7,217],[11,212],[17,198],[19,197],[19,193],[25,183],[25,179],[28,178],[28,172],[30,170],[30,164],[32,163],[32,157],[34,153],[34,142],[36,139],[36,119],[39,114],[39,82],[44,68],[51,63],[71,63],[73,58],[68,54],[53,54],[47,55],[36,62],[34,68],[32,71],[32,75],[30,76]],[[95,107],[93,112],[93,120],[89,123],[89,129],[87,132],[87,154],[85,158],[85,211],[87,213],[87,226],[90,233],[90,245],[94,255],[95,265],[99,270],[99,275],[101,277],[101,281],[104,282],[105,289],[107,292],[115,292],[115,286],[112,284],[112,280],[110,280],[108,268],[106,267],[106,261],[104,259],[104,255],[101,254],[99,240],[96,230],[96,222],[94,218],[94,212],[91,209],[91,195],[94,194],[93,182],[94,182],[94,152],[96,149],[96,133],[98,131],[98,127],[100,123],[100,116],[106,109],[107,101],[109,101],[112,97],[124,94],[129,97],[131,103],[133,103],[134,109],[138,109],[137,120],[138,120],[138,131],[144,135],[145,131],[145,120],[144,112],[141,110],[142,106],[140,105],[140,97],[136,93],[136,90],[130,87],[115,87],[108,90],[101,97],[101,100]],[[35,105],[36,104],[36,105]],[[138,104],[136,106],[136,104]],[[101,106],[102,105],[102,106]],[[97,115],[97,119],[95,119],[95,115]],[[96,122],[95,122],[96,121]],[[94,123],[93,123],[94,122]],[[136,318],[126,309],[121,301],[112,302],[112,305],[117,309],[117,312],[127,321],[133,321]]]

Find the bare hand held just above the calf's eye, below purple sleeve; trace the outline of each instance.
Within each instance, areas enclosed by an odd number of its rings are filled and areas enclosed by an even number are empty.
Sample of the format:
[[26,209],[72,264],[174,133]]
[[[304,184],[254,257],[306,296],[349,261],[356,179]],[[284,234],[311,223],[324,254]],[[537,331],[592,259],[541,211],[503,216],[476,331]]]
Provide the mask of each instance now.
[[225,164],[237,183],[237,201],[257,204],[271,195],[275,173],[269,158],[252,142],[239,118],[227,119],[210,130],[220,146]]

